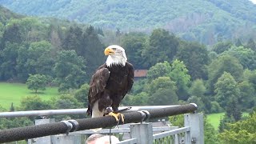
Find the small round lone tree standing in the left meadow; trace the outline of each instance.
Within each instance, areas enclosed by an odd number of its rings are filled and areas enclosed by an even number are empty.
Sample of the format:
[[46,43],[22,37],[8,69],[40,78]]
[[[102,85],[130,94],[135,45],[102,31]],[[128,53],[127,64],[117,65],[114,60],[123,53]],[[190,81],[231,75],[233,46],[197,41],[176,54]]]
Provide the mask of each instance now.
[[38,94],[38,90],[46,90],[49,79],[42,74],[30,74],[30,77],[26,81],[27,88],[34,90],[35,94]]

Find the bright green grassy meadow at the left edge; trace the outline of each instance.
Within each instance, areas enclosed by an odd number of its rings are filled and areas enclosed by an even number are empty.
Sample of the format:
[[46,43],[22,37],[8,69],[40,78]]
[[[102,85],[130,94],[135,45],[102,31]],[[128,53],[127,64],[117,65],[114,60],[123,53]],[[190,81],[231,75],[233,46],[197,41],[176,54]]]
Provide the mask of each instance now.
[[[31,95],[35,94],[33,91],[28,90],[25,84],[0,82],[0,105],[7,110],[9,110],[11,102],[14,102],[14,107],[19,106],[22,98]],[[58,90],[56,87],[47,87],[43,93],[38,94],[43,100],[57,95]]]

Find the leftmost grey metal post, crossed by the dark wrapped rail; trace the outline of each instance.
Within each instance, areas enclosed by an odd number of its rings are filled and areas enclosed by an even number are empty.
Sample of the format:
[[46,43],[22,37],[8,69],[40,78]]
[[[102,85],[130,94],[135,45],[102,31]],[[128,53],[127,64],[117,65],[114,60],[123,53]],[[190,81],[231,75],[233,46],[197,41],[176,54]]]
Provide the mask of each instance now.
[[[49,118],[49,119],[36,119],[34,124],[35,125],[42,125],[46,123],[53,123],[55,122],[54,118]],[[28,140],[29,144],[51,144],[51,137],[46,136],[46,137],[41,137],[41,138],[33,138]]]

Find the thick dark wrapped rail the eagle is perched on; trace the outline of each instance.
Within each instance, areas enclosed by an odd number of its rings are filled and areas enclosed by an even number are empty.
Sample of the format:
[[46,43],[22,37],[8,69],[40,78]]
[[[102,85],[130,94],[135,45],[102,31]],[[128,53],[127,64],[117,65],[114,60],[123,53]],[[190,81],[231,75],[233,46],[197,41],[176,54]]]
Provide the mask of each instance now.
[[[186,104],[181,106],[173,106],[166,108],[159,108],[154,110],[148,110],[149,118],[162,118],[171,115],[194,113],[198,107],[195,104]],[[146,118],[146,113],[142,112],[130,112],[124,114],[124,124],[131,122],[142,122]],[[78,128],[76,130],[90,130],[95,128],[106,128],[110,126],[117,126],[122,122],[116,122],[114,117],[98,117],[98,118],[84,118],[77,119]],[[71,129],[73,124],[70,122]],[[0,130],[0,143],[1,142],[14,142],[23,139],[38,138],[47,135],[54,134],[66,134],[70,130],[70,125],[68,126],[65,122],[54,122],[47,123],[37,126],[25,126],[17,127],[13,129]],[[175,133],[174,133],[175,134]]]

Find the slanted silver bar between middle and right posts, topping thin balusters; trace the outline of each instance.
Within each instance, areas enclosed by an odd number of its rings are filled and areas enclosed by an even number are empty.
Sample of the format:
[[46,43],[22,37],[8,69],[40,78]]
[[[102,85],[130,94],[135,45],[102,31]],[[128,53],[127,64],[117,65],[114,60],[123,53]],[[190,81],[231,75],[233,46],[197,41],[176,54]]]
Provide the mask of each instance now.
[[190,131],[190,127],[182,127],[182,128],[176,129],[176,130],[170,130],[170,131],[165,131],[165,132],[158,133],[158,134],[153,134],[153,138],[154,139],[165,138],[170,135],[181,134],[181,133],[185,133],[187,131]]

